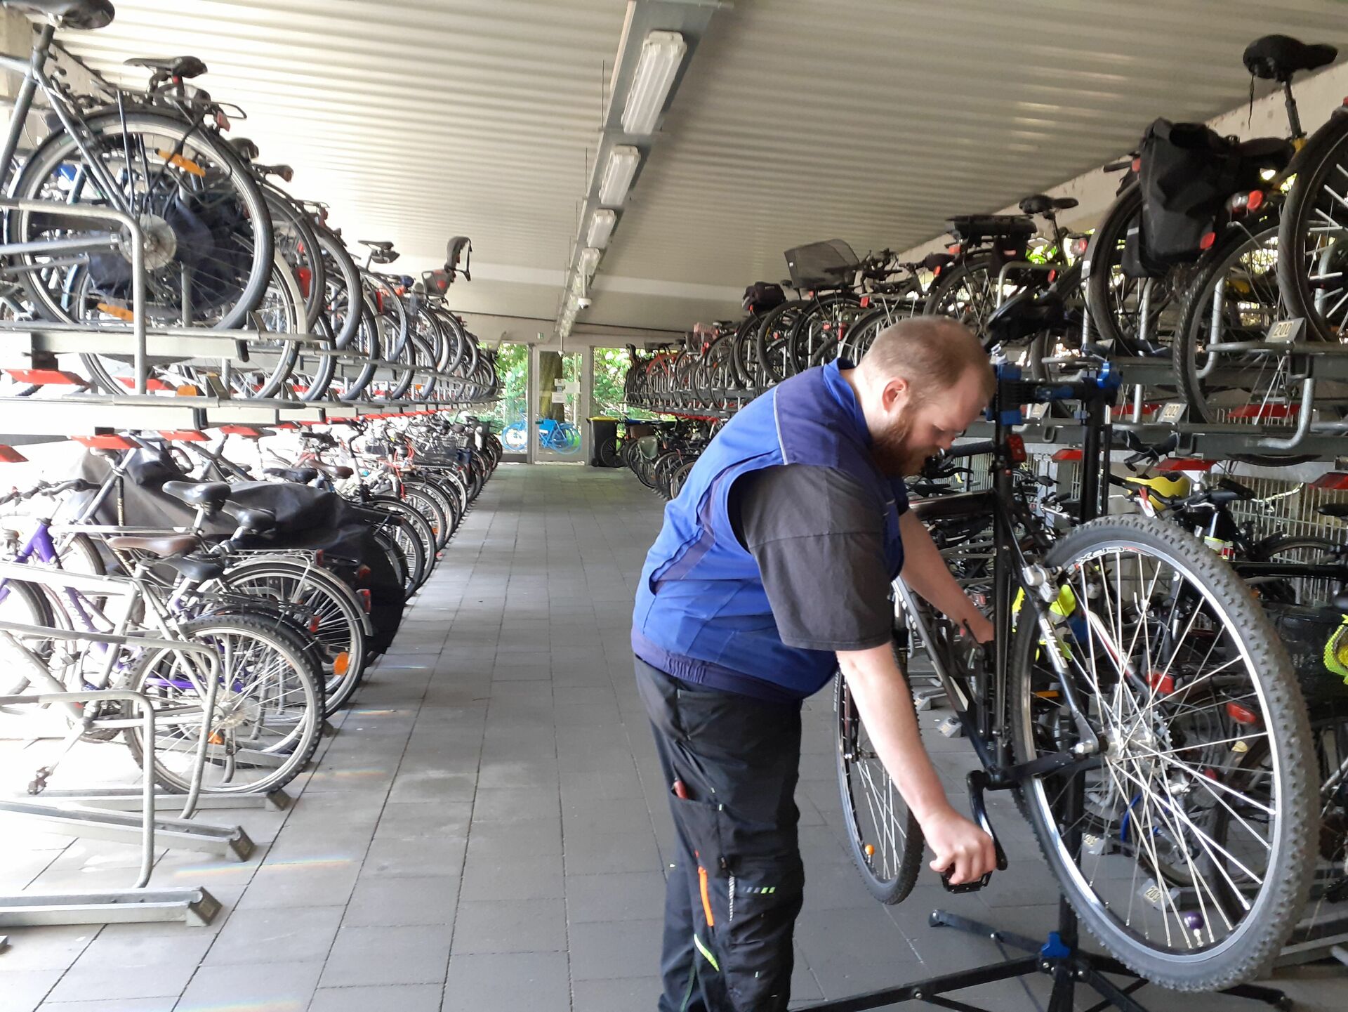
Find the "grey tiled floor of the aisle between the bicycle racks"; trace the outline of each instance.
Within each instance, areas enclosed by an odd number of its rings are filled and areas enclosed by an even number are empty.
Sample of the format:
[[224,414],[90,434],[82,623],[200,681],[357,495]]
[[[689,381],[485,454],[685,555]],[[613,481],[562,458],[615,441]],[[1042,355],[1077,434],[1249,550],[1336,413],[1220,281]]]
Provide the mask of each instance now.
[[[201,884],[226,904],[216,923],[11,931],[0,1011],[654,1009],[671,825],[627,631],[659,505],[623,472],[501,468],[395,652],[293,786],[295,806],[208,814],[239,821],[253,858],[160,860],[156,884]],[[1051,924],[1053,884],[1006,803],[993,818],[1012,872],[962,897],[926,876],[903,904],[878,906],[840,835],[829,718],[821,694],[799,796],[797,1004],[998,958],[989,941],[927,927],[934,906],[1031,935]],[[957,790],[965,747],[927,744]],[[133,861],[131,848],[0,822],[0,891],[117,885]],[[1343,972],[1287,986],[1298,1008],[1348,1007]],[[977,1000],[1043,1005],[1042,982],[1030,989]],[[1150,993],[1155,1009],[1248,1008]]]

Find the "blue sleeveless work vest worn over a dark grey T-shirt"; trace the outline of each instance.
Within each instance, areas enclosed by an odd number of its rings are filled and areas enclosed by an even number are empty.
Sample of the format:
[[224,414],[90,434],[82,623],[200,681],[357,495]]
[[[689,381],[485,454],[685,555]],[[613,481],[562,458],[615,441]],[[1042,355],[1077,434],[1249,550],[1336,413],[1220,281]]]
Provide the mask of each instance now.
[[[787,647],[776,631],[758,562],[735,536],[731,485],[762,468],[837,468],[884,509],[890,574],[903,566],[900,478],[871,460],[871,435],[837,361],[809,369],[749,402],[712,439],[646,555],[632,613],[632,652],[687,682],[768,699],[803,699],[833,676],[832,651]],[[802,589],[803,590],[803,589]]]

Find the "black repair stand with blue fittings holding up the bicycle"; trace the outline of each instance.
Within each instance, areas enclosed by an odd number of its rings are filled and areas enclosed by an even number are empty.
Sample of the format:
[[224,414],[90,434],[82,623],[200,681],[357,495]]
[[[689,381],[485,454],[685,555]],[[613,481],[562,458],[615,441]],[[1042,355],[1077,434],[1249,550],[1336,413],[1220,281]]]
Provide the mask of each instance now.
[[[1068,399],[1081,402],[1077,418],[1084,427],[1084,437],[1081,442],[1082,523],[1093,520],[1105,512],[1105,503],[1101,493],[1104,489],[1108,489],[1109,484],[1107,478],[1109,469],[1109,449],[1112,442],[1109,431],[1109,407],[1115,400],[1117,389],[1117,373],[1109,368],[1108,362],[1103,362],[1092,373],[1088,373],[1085,381],[1078,380],[1070,384],[1057,385],[1037,385],[1026,383],[1020,380],[1020,372],[1018,368],[1004,364],[998,367],[998,392],[989,414],[996,424],[995,442],[999,446],[1006,446],[1006,438],[1010,435],[1011,426],[1023,423],[1023,418],[1020,415],[1022,404]],[[1010,466],[1010,462],[1004,454],[999,453],[995,466]],[[999,648],[1004,648],[1002,639],[1004,635],[1004,628],[999,624]],[[988,780],[989,778],[983,769],[976,769],[969,773],[971,799],[973,800],[975,818],[984,826],[987,826],[987,822],[983,815],[984,809],[981,796],[975,795],[981,795],[983,787],[988,784]],[[1076,778],[1073,783],[1080,786],[1080,778]],[[999,787],[1010,786],[1010,783],[999,784]],[[1072,825],[1077,821],[1082,798],[1080,788],[1069,790],[1066,791],[1066,795],[1068,811],[1064,818],[1069,821],[1068,825]],[[1064,841],[1068,844],[1069,849],[1074,850],[1080,846],[1080,840],[1076,838],[1078,837],[1078,833],[1069,835]],[[948,885],[946,888],[950,887]],[[975,885],[975,888],[980,888],[980,885]],[[952,891],[971,892],[972,889],[957,887]],[[980,1008],[979,1005],[971,1005],[965,1001],[948,996],[950,992],[964,990],[965,988],[977,988],[980,985],[996,984],[999,981],[1020,980],[1034,973],[1042,973],[1053,978],[1053,992],[1049,997],[1047,1012],[1074,1012],[1076,988],[1078,982],[1095,989],[1095,992],[1103,999],[1095,1005],[1091,1005],[1089,1012],[1104,1012],[1104,1009],[1108,1008],[1119,1009],[1119,1012],[1147,1012],[1143,1005],[1138,1004],[1132,999],[1135,992],[1147,985],[1147,980],[1139,977],[1117,959],[1108,955],[1082,951],[1078,947],[1080,939],[1077,930],[1077,914],[1065,897],[1058,899],[1058,927],[1055,931],[1049,932],[1047,941],[1045,942],[1037,942],[1033,938],[1026,938],[1024,935],[1019,935],[1012,931],[1003,931],[991,924],[984,924],[983,922],[972,920],[944,910],[931,911],[931,915],[927,918],[927,923],[931,927],[953,927],[956,931],[964,931],[971,935],[983,935],[984,938],[992,939],[999,946],[1004,943],[1015,949],[1020,949],[1027,953],[1027,955],[1007,958],[1002,962],[987,963],[985,966],[977,966],[971,970],[957,970],[956,973],[946,973],[938,977],[927,977],[926,980],[914,981],[911,984],[872,990],[864,994],[855,994],[848,999],[836,999],[832,1001],[814,1003],[813,1005],[802,1005],[801,1012],[863,1012],[863,1009],[896,1005],[905,1001],[923,1001],[940,1008],[956,1009],[956,1012],[987,1012],[987,1009]],[[1120,986],[1108,980],[1105,974],[1131,977],[1132,981]],[[1022,986],[1024,985],[1022,984]],[[1026,988],[1026,993],[1029,994],[1029,988]],[[1286,993],[1278,990],[1277,988],[1264,988],[1256,984],[1242,984],[1233,988],[1227,988],[1220,993],[1229,994],[1232,997],[1248,999],[1251,1001],[1262,1001],[1279,1009],[1291,1008],[1291,1000],[1286,996]]]

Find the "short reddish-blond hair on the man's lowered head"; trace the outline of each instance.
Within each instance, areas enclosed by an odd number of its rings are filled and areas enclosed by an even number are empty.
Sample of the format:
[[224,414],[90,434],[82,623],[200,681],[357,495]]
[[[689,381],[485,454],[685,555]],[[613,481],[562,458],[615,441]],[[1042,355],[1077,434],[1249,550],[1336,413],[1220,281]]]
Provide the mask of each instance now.
[[911,317],[875,336],[859,368],[874,383],[902,376],[919,400],[944,393],[969,372],[985,399],[996,389],[992,362],[973,333],[949,317]]

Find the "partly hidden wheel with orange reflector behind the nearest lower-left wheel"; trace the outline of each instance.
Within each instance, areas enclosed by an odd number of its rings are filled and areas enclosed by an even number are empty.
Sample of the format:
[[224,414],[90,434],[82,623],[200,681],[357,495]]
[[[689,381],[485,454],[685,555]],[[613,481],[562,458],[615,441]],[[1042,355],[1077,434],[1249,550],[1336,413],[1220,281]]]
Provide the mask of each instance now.
[[345,583],[305,562],[259,559],[231,567],[221,585],[229,593],[280,601],[311,616],[309,631],[318,641],[325,714],[346,703],[364,676],[368,652],[363,609]]

